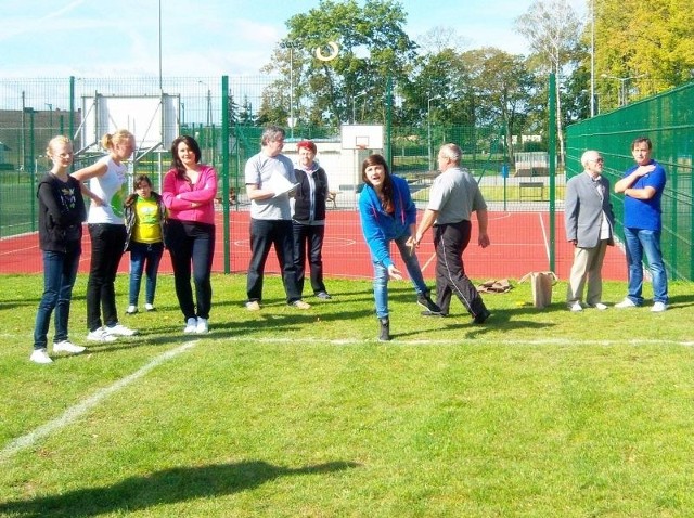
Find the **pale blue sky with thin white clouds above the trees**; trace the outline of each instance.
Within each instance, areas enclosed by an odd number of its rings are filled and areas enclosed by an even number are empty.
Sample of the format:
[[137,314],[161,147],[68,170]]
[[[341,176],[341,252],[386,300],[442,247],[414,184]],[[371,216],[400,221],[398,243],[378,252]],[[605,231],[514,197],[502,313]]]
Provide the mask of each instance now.
[[[569,0],[581,17],[586,2]],[[415,41],[435,27],[447,27],[463,38],[463,49],[528,52],[513,26],[530,0],[401,0],[401,4],[408,13],[406,31]],[[319,5],[319,0],[3,2],[0,78],[156,77],[159,64],[164,77],[259,75],[286,36],[286,21]]]

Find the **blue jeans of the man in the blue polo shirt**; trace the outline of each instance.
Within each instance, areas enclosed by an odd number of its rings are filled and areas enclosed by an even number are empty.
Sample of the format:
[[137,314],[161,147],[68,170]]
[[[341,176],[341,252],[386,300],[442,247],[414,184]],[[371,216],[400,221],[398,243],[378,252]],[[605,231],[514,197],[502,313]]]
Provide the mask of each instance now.
[[648,261],[653,281],[653,301],[668,303],[668,275],[660,250],[660,232],[629,229],[625,226],[627,267],[629,269],[629,294],[627,297],[637,306],[643,303],[643,255]]

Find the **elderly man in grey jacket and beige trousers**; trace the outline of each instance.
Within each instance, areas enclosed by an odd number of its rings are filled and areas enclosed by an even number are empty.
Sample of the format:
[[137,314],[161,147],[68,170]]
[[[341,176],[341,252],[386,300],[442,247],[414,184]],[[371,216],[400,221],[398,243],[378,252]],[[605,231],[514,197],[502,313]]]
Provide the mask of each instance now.
[[607,245],[615,244],[609,181],[602,176],[604,160],[596,151],[583,153],[581,165],[583,172],[566,182],[564,223],[566,239],[575,247],[566,303],[570,311],[583,310],[581,299],[588,281],[588,307],[604,310],[601,271]]

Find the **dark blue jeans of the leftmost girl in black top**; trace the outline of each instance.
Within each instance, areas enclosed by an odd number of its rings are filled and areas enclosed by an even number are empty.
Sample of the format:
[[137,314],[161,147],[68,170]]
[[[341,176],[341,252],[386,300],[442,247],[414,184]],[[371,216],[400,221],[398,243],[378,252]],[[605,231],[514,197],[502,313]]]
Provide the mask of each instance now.
[[48,345],[48,328],[51,313],[55,310],[55,336],[53,342],[67,340],[67,322],[73,286],[79,267],[79,248],[63,254],[43,251],[43,296],[36,312],[34,326],[34,349],[43,349]]

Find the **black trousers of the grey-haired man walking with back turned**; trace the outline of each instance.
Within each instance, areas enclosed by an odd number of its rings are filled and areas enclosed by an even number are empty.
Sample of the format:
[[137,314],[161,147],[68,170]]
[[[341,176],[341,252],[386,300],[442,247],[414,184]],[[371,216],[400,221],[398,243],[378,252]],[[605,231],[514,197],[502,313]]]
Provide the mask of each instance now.
[[436,303],[448,314],[453,294],[460,299],[473,319],[485,308],[474,284],[465,274],[463,251],[470,243],[472,224],[467,220],[459,223],[434,226],[436,249]]

